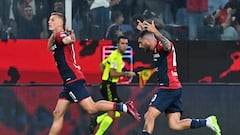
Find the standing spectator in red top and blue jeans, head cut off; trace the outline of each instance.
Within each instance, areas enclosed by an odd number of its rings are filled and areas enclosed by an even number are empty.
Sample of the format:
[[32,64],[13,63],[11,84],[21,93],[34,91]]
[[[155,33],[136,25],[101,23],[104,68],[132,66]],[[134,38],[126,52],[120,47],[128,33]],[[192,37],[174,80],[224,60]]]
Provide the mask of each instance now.
[[188,38],[197,39],[198,28],[203,26],[202,17],[208,11],[208,0],[187,0]]

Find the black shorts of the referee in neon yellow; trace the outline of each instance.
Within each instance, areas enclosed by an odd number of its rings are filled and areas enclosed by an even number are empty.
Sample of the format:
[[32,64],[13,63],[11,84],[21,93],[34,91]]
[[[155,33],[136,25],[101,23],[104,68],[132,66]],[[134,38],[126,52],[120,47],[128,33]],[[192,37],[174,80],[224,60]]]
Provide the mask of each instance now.
[[118,97],[116,83],[103,81],[100,85],[100,92],[105,100],[121,103],[121,100]]

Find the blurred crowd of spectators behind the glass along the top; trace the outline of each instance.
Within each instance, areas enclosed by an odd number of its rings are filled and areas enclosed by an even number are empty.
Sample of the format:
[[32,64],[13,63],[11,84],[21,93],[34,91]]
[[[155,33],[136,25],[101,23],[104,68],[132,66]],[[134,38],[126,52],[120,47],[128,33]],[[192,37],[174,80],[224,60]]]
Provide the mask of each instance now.
[[[1,0],[0,38],[45,39],[64,0]],[[78,39],[136,40],[137,20],[154,20],[171,40],[239,40],[240,0],[72,0]]]

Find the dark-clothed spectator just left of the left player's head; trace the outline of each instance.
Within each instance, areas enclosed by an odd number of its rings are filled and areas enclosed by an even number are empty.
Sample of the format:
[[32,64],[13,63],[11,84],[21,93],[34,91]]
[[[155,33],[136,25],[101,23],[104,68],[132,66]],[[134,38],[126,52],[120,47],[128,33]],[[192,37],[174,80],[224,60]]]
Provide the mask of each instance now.
[[[15,14],[18,14],[16,12]],[[41,17],[33,15],[32,7],[30,5],[24,8],[24,14],[17,18],[18,36],[22,39],[38,39],[41,33]]]

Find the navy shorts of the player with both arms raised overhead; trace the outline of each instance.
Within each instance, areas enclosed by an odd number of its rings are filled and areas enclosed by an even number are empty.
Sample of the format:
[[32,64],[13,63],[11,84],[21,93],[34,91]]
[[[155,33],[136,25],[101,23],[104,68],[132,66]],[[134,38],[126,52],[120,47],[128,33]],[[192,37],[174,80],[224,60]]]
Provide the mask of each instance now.
[[182,113],[182,88],[176,90],[159,89],[149,104],[161,113]]

